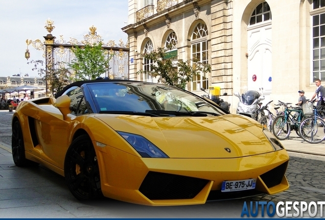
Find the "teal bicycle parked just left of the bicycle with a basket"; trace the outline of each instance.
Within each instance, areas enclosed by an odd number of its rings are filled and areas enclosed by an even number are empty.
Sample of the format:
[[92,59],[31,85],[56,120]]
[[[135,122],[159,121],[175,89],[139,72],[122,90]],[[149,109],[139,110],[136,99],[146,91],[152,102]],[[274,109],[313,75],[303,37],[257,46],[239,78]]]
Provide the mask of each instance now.
[[303,108],[289,106],[292,103],[284,103],[280,100],[278,102],[284,105],[285,110],[284,115],[277,116],[272,123],[274,136],[278,140],[286,140],[291,130],[295,130],[297,135],[300,136],[299,125],[304,117]]

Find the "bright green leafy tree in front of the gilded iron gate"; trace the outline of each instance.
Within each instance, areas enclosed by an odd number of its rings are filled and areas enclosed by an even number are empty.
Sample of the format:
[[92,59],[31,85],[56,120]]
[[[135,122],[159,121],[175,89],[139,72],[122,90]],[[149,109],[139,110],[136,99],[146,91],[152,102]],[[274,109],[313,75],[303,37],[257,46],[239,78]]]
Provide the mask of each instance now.
[[75,72],[76,79],[96,79],[106,72],[110,56],[107,56],[107,50],[102,48],[102,43],[74,46],[72,51],[76,58],[70,67]]

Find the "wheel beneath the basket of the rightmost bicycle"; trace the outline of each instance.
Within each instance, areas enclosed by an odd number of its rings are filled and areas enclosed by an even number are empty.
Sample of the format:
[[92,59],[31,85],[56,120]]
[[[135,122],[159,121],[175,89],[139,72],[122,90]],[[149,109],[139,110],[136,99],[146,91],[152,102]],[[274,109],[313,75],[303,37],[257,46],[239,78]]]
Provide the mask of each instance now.
[[299,126],[300,136],[304,141],[317,144],[325,140],[325,121],[320,117],[308,117]]

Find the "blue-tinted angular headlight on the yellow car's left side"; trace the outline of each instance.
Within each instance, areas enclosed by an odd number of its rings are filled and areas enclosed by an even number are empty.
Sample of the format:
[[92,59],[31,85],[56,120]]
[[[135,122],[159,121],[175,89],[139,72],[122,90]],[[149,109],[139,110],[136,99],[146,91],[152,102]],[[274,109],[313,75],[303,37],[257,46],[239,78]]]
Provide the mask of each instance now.
[[142,157],[169,158],[143,136],[117,131]]

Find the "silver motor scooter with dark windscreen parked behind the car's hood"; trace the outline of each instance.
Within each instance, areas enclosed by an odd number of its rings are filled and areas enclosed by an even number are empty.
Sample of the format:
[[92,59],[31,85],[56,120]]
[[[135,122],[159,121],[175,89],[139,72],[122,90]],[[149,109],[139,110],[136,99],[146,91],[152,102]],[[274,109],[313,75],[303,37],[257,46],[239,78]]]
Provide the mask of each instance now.
[[237,114],[257,120],[259,102],[265,99],[264,96],[252,90],[243,93],[241,96],[239,92],[235,92],[234,95],[239,98]]

